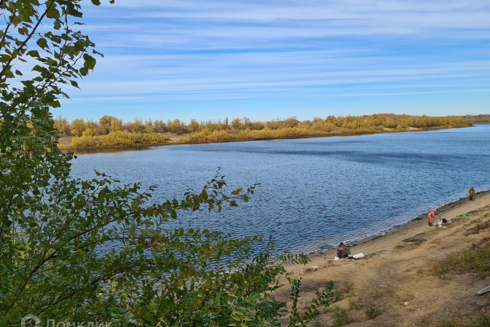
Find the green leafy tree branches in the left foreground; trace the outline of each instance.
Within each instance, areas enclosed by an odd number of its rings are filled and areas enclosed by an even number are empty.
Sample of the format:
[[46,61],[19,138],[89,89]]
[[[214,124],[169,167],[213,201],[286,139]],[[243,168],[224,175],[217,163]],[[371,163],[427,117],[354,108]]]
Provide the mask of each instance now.
[[[248,202],[256,185],[230,192],[215,176],[202,190],[156,203],[156,186],[70,177],[72,154],[57,148],[50,108],[67,97],[61,85],[77,87],[96,63],[94,44],[72,22],[80,1],[1,0],[0,9],[1,326],[19,326],[28,314],[57,325],[279,326],[289,316],[290,326],[304,326],[329,304],[331,284],[298,310],[300,281],[283,264],[304,256],[273,256],[272,241],[253,255],[258,239],[167,228],[181,211]],[[289,314],[271,295],[280,278],[291,285]]]

